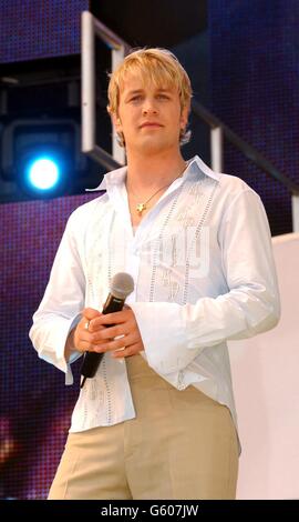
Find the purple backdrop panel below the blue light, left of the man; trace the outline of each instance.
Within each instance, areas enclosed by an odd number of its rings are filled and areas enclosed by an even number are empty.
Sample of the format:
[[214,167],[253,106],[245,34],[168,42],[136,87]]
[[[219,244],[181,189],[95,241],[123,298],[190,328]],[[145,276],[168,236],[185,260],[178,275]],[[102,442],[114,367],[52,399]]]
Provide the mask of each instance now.
[[68,217],[96,195],[0,205],[0,498],[45,498],[59,463],[79,375],[64,387],[28,332]]

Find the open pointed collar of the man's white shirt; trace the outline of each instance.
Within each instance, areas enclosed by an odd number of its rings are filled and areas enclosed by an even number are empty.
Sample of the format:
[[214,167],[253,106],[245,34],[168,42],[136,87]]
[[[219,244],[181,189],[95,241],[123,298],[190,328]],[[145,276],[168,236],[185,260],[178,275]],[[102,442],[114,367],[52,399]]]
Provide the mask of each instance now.
[[[102,182],[96,187],[95,189],[85,189],[87,192],[94,192],[97,190],[109,190],[112,187],[115,185],[122,185],[125,177],[126,177],[126,165],[121,167],[121,169],[112,170],[111,172],[107,172]],[[214,180],[218,181],[220,178],[220,174],[217,172],[214,172],[198,155],[195,155],[188,161],[187,168],[184,172],[184,178],[185,179],[196,179],[198,178],[199,173],[204,173],[205,175],[213,178]]]

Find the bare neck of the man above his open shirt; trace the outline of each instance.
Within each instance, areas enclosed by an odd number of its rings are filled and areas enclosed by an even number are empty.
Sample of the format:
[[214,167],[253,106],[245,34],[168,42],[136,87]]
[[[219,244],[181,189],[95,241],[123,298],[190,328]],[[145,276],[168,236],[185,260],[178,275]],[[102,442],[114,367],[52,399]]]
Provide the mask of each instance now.
[[178,150],[176,153],[159,153],[134,157],[127,154],[127,185],[136,192],[155,190],[171,184],[186,169],[186,162]]

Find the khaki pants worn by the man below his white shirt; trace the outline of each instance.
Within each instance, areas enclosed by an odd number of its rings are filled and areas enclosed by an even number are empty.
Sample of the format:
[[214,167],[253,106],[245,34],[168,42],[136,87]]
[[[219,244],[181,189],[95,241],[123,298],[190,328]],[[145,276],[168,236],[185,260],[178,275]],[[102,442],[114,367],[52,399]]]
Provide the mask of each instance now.
[[70,433],[49,499],[235,499],[238,443],[229,410],[178,391],[126,358],[136,419]]

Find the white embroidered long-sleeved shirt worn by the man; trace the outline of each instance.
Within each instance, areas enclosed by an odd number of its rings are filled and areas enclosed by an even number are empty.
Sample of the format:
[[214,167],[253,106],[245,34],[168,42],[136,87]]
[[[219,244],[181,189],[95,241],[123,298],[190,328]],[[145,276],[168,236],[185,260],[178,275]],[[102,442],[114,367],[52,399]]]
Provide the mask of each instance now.
[[[280,304],[268,220],[259,195],[237,177],[188,162],[133,232],[126,167],[109,172],[106,193],[69,218],[30,338],[66,374],[64,345],[84,307],[102,310],[111,278],[135,282],[135,313],[148,365],[178,390],[194,385],[226,404],[235,423],[227,340],[274,328]],[[73,354],[70,362],[80,357]],[[126,364],[105,353],[87,379],[71,432],[135,416]]]

